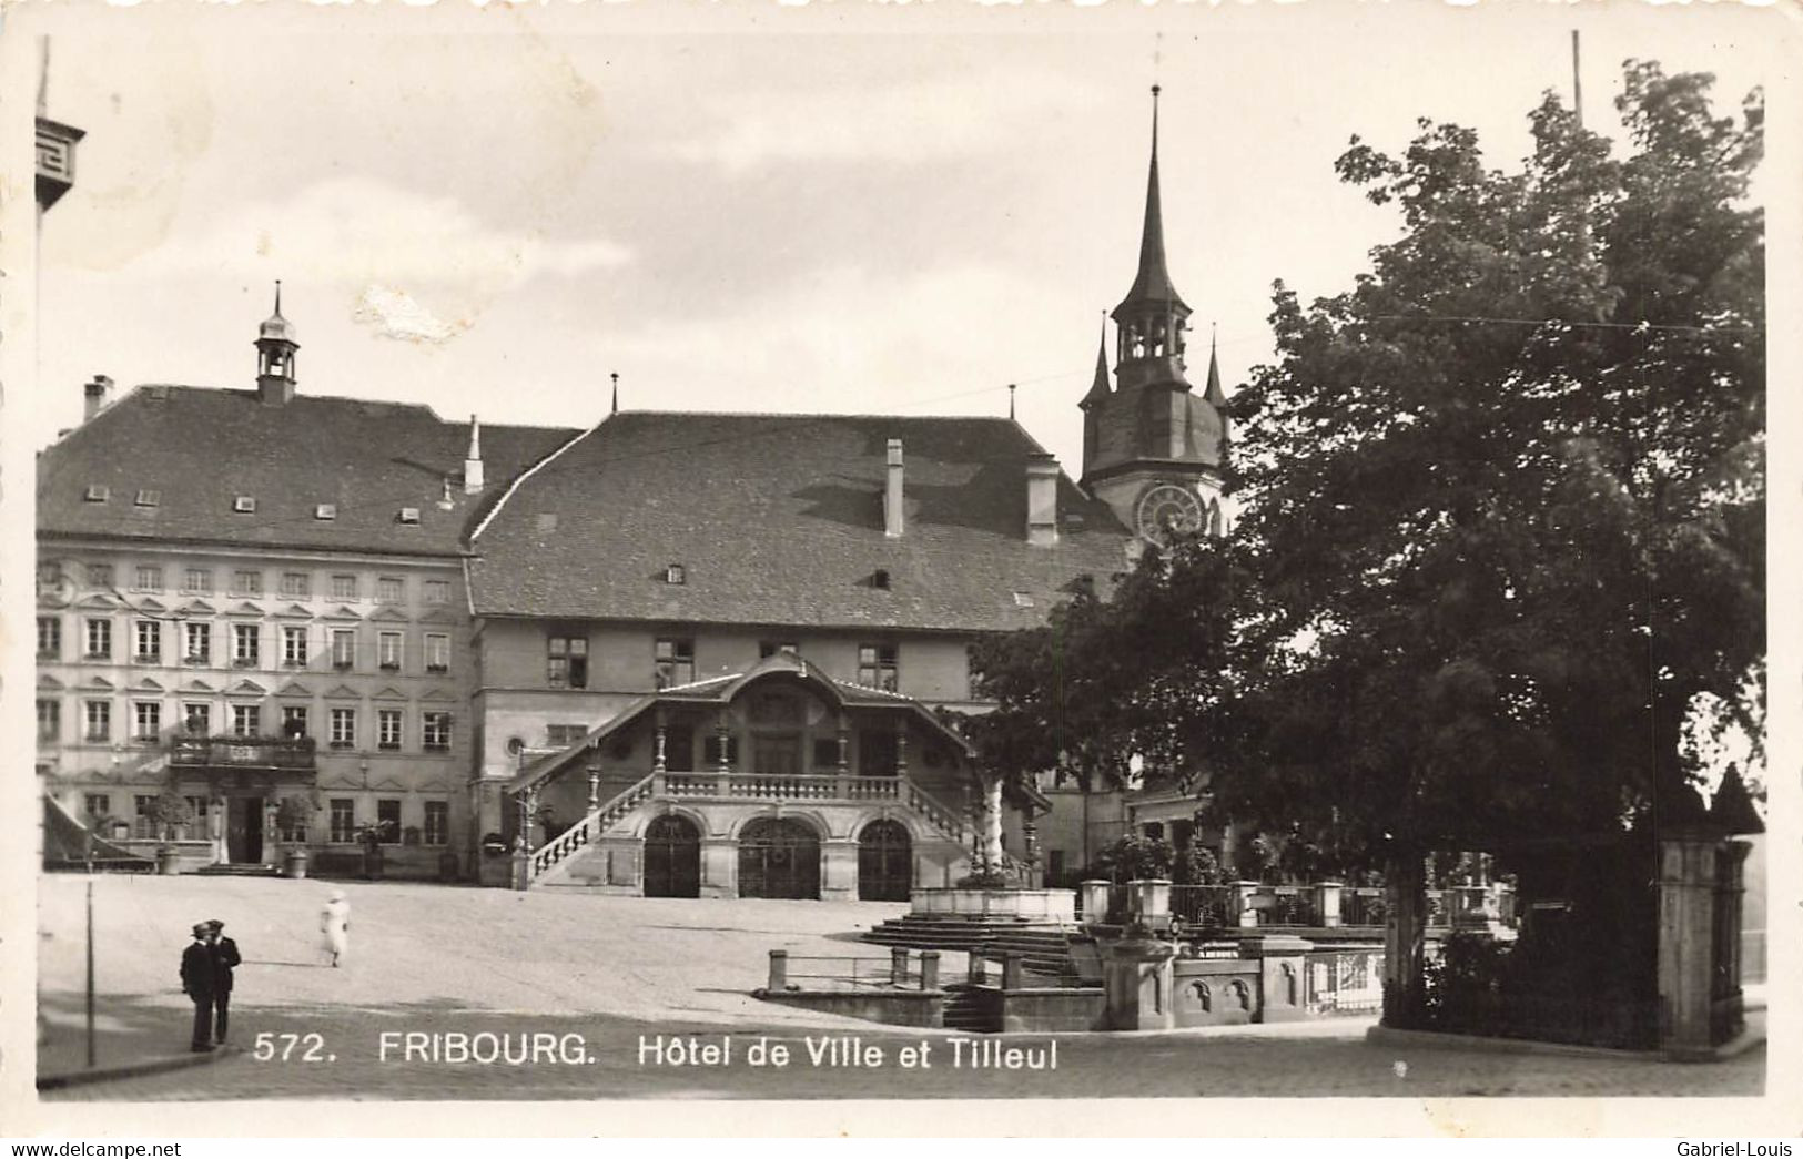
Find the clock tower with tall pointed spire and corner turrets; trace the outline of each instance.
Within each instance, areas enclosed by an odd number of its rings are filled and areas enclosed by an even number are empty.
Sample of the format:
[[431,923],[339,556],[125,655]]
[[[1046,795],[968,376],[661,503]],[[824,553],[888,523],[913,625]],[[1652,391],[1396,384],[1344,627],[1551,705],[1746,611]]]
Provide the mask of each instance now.
[[1165,218],[1158,187],[1158,85],[1152,87],[1152,164],[1145,189],[1139,270],[1114,319],[1114,386],[1107,341],[1084,411],[1084,487],[1143,539],[1170,528],[1226,530],[1221,487],[1228,456],[1221,370],[1213,342],[1201,395],[1185,375],[1190,306],[1165,269]]

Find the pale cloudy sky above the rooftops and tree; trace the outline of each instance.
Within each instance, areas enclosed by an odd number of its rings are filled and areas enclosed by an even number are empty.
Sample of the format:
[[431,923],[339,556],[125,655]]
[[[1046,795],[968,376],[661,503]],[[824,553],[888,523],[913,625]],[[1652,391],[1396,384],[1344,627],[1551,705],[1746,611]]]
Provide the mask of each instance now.
[[1727,5],[676,11],[54,27],[49,112],[88,135],[43,222],[34,442],[94,373],[252,386],[281,278],[307,393],[588,425],[609,371],[654,409],[1001,415],[1017,382],[1075,474],[1154,79],[1172,276],[1231,386],[1273,279],[1338,292],[1394,234],[1334,180],[1352,133],[1459,121],[1511,164],[1574,27],[1605,132],[1625,58],[1715,72],[1724,112],[1790,67]]

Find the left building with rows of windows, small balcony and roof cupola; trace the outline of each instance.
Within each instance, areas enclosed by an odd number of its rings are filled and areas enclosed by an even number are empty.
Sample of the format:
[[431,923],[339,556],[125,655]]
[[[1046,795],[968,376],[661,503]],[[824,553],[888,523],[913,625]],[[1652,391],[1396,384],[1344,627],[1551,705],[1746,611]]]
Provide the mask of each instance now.
[[173,788],[188,865],[270,865],[290,845],[328,865],[370,833],[391,872],[467,874],[462,541],[485,476],[572,433],[299,395],[279,297],[256,348],[254,391],[112,404],[97,379],[83,425],[40,456],[43,789],[153,851]]

